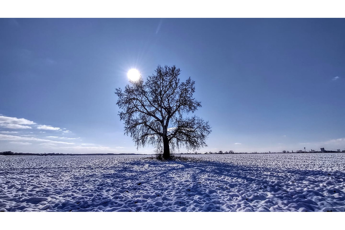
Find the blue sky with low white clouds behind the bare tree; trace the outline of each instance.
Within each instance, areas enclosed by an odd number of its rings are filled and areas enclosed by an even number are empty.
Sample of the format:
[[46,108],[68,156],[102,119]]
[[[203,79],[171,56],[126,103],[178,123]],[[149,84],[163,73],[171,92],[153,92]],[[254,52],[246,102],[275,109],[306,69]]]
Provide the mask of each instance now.
[[152,153],[124,136],[114,91],[129,69],[145,79],[158,64],[195,80],[196,114],[213,130],[199,152],[343,150],[344,25],[0,19],[0,151]]

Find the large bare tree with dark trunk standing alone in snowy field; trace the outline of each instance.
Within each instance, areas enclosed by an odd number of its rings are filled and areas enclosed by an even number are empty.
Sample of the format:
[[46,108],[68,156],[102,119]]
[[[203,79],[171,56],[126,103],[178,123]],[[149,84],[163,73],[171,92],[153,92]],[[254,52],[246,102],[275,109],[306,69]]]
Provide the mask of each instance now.
[[164,159],[170,158],[170,147],[196,150],[207,146],[208,121],[184,117],[201,107],[193,98],[195,82],[190,77],[180,82],[180,69],[175,66],[158,66],[155,72],[145,82],[141,76],[130,81],[123,92],[116,89],[125,134],[130,134],[137,149],[151,144],[163,152]]

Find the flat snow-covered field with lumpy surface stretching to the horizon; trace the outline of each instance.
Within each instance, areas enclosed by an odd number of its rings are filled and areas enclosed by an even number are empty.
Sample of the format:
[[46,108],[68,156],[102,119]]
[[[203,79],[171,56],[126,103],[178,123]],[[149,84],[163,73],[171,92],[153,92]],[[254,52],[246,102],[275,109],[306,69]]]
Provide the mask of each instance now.
[[0,156],[0,211],[345,211],[344,153],[189,159]]

